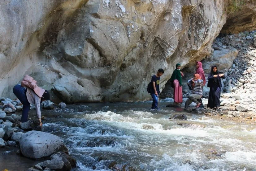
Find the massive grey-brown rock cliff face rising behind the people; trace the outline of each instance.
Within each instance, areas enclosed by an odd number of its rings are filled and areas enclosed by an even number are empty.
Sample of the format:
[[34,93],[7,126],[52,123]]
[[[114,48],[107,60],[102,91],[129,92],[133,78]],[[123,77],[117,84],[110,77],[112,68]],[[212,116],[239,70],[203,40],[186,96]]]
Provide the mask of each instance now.
[[176,63],[184,67],[210,54],[227,14],[236,14],[228,6],[228,0],[7,1],[0,6],[0,96],[14,97],[10,92],[26,73],[51,89],[56,103],[57,96],[148,99],[146,85],[158,68],[165,70],[163,87]]

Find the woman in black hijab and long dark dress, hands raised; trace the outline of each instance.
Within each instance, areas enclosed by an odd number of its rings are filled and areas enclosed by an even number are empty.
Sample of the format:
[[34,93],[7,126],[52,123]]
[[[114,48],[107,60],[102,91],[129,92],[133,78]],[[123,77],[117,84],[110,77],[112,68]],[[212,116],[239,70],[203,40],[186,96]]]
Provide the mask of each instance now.
[[207,84],[207,87],[210,87],[207,108],[214,108],[216,110],[220,107],[221,78],[225,78],[224,74],[218,71],[217,66],[212,66]]

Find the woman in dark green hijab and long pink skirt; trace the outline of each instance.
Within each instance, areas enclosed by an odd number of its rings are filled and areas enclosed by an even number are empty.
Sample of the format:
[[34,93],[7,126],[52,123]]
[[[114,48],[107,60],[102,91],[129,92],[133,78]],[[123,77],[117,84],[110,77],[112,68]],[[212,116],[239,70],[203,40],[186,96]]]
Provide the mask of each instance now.
[[173,71],[171,75],[171,85],[174,88],[173,91],[173,99],[174,103],[182,103],[182,80],[183,72],[180,71],[180,64],[176,64],[176,69]]

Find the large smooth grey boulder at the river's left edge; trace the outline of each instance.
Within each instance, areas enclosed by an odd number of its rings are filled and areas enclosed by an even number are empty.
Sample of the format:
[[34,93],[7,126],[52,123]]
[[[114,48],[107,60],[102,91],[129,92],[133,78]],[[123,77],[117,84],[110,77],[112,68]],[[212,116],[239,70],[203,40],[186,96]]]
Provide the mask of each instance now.
[[39,159],[67,148],[59,136],[47,132],[29,131],[20,138],[20,150],[25,157]]

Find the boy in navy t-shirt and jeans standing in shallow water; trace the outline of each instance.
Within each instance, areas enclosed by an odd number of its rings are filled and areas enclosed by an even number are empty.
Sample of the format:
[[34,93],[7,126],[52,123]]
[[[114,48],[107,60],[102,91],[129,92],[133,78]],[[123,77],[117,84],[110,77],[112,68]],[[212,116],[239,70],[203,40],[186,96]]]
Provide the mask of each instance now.
[[158,108],[158,99],[159,99],[159,83],[160,83],[160,76],[163,75],[163,69],[158,69],[157,74],[153,75],[151,78],[152,88],[150,91],[150,95],[152,96],[153,103],[151,109],[159,109]]

